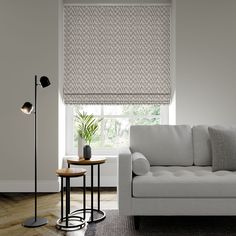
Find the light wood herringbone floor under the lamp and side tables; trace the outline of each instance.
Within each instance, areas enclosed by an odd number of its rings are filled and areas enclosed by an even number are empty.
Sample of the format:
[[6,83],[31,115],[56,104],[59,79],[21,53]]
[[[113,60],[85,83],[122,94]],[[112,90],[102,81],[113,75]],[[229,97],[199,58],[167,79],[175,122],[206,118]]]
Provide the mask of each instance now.
[[[97,200],[97,195],[94,195]],[[90,206],[90,192],[87,190],[87,207]],[[29,193],[0,193],[0,236],[36,236],[36,235],[69,235],[82,236],[86,228],[64,232],[55,228],[60,217],[60,193],[38,195],[38,215],[46,217],[49,223],[38,228],[25,228],[22,222],[34,214],[34,195]],[[96,205],[95,205],[96,206]],[[82,191],[77,188],[71,191],[71,211],[82,208]],[[101,209],[117,209],[116,190],[101,190]]]

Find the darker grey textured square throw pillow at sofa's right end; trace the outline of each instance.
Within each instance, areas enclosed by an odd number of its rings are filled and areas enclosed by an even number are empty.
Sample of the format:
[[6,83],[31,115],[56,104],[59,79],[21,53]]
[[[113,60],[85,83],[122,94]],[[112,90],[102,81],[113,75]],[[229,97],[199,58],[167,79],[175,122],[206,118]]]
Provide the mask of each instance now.
[[236,127],[209,127],[212,170],[236,170]]

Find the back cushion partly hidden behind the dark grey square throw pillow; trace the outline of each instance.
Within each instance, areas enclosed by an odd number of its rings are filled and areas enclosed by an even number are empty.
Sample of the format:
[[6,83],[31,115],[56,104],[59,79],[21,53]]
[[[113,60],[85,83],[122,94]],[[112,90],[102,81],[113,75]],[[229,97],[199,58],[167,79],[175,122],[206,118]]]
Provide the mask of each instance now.
[[198,125],[192,128],[193,133],[193,160],[194,165],[210,166],[212,164],[211,157],[211,141],[208,132],[208,126]]

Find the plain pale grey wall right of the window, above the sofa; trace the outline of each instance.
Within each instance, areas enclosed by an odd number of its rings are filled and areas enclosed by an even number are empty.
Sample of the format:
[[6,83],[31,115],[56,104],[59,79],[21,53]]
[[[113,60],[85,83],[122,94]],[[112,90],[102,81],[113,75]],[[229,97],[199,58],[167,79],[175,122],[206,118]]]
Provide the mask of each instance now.
[[176,123],[236,124],[236,1],[176,1]]

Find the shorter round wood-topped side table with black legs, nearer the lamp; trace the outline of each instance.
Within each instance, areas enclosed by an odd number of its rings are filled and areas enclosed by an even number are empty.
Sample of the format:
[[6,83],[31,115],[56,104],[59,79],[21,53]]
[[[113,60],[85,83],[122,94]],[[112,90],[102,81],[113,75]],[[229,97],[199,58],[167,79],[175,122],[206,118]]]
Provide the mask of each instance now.
[[[86,170],[82,168],[63,168],[56,171],[61,177],[61,218],[57,220],[56,227],[64,231],[82,229],[85,226],[86,207]],[[83,176],[83,217],[70,214],[70,178]],[[66,179],[66,216],[63,216],[63,178]]]

